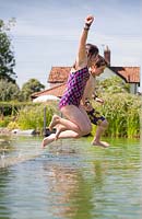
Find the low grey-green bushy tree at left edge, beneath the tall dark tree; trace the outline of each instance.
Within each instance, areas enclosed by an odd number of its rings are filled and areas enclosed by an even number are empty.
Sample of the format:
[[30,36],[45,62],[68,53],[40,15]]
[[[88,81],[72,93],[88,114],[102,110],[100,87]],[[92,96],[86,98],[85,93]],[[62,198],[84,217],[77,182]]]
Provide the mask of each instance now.
[[0,80],[0,101],[14,101],[20,99],[20,88],[16,83]]

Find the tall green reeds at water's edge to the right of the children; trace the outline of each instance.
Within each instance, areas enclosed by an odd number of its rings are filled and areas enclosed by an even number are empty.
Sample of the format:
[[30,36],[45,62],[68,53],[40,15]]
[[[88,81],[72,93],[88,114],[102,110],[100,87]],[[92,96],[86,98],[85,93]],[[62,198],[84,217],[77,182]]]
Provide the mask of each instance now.
[[141,97],[129,93],[106,93],[103,99],[105,104],[94,103],[94,107],[109,123],[105,135],[109,137],[140,137]]

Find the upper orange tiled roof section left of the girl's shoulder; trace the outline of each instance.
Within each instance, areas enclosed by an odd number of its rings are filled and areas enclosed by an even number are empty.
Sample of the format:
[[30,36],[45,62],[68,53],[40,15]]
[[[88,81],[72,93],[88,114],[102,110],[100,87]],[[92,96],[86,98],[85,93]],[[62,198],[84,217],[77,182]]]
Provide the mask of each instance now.
[[67,81],[71,67],[51,67],[48,78],[49,83],[63,83]]

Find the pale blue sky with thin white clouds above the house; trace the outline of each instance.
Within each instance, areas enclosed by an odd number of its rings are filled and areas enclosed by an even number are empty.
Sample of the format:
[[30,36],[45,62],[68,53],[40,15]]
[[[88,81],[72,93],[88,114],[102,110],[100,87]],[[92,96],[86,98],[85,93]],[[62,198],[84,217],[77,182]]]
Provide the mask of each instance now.
[[9,35],[20,88],[32,78],[48,88],[51,67],[73,65],[88,14],[87,43],[100,55],[108,46],[111,66],[142,67],[141,0],[0,0],[0,19],[16,20]]

